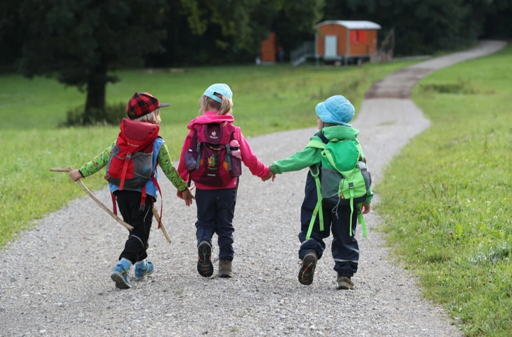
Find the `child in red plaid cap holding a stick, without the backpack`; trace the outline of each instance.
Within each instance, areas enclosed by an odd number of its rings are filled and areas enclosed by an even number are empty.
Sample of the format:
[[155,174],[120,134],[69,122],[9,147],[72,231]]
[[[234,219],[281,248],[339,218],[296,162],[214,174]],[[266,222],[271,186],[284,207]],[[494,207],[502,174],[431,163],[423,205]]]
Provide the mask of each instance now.
[[[134,138],[140,135],[141,128],[147,128],[148,124],[160,125],[160,107],[167,107],[169,104],[160,104],[158,99],[150,93],[135,93],[130,98],[127,105],[128,119],[123,119],[122,132],[134,133]],[[131,130],[128,131],[129,125]],[[151,146],[151,145],[150,145]],[[110,159],[110,154],[116,150],[116,142],[107,147],[101,154],[84,164],[80,169],[70,172],[72,180],[77,181],[80,178],[91,176],[98,172],[103,166],[106,166]],[[153,175],[158,182],[157,165],[160,165],[165,176],[170,180],[172,185],[181,192],[186,206],[192,204],[194,199],[187,183],[181,179],[177,170],[172,165],[172,159],[169,157],[169,151],[165,141],[158,136],[153,141]],[[106,177],[105,177],[106,178]],[[128,272],[132,264],[134,268],[134,278],[143,279],[146,275],[153,272],[153,263],[146,260],[148,253],[148,239],[153,222],[153,203],[158,196],[158,186],[152,179],[148,180],[146,185],[142,187],[126,187],[120,188],[119,185],[109,183],[110,192],[115,195],[117,205],[123,220],[134,227],[129,232],[128,239],[124,244],[124,250],[119,256],[119,263],[115,265],[111,279],[115,282],[115,286],[120,289],[132,287],[129,281]],[[143,195],[146,194],[144,198]],[[142,200],[141,200],[142,199]]]

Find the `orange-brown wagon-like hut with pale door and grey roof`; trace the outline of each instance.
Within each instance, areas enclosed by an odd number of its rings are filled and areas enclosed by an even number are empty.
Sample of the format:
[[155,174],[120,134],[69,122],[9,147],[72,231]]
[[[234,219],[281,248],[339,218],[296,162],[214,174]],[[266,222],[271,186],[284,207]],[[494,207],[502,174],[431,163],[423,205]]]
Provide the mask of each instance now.
[[328,20],[314,26],[316,59],[354,61],[358,65],[377,53],[377,30],[371,21]]

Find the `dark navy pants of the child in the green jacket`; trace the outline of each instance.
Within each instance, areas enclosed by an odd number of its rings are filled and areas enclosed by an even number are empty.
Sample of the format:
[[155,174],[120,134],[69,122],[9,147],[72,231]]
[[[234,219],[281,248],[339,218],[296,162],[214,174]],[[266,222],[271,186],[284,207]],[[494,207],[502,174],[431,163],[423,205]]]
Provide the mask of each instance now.
[[316,184],[311,173],[307,173],[305,197],[302,201],[300,211],[300,249],[299,258],[302,260],[306,253],[315,251],[321,258],[326,249],[324,239],[333,233],[331,251],[334,259],[334,270],[338,275],[352,277],[357,272],[359,263],[359,245],[355,238],[357,225],[357,209],[354,206],[354,213],[350,219],[350,206],[333,204],[326,200],[322,201],[324,212],[324,230],[320,230],[319,216],[316,216],[313,230],[309,240],[306,240],[309,222],[311,221],[314,207],[316,206]]

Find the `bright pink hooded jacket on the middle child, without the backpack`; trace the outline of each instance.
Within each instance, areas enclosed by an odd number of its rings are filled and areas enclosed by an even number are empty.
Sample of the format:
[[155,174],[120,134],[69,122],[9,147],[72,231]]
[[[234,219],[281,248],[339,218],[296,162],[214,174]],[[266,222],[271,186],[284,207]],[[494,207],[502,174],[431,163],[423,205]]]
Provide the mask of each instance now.
[[[205,112],[199,117],[196,117],[195,119],[192,119],[190,123],[188,123],[188,135],[186,136],[183,146],[181,147],[181,154],[179,156],[179,164],[178,164],[178,173],[183,178],[183,180],[188,181],[188,171],[186,171],[185,168],[185,152],[190,147],[191,139],[193,135],[193,128],[196,124],[208,124],[208,123],[222,123],[224,121],[227,121],[228,123],[233,123],[235,121],[235,118],[231,114],[217,114],[217,111],[209,111]],[[242,158],[242,162],[245,166],[248,167],[250,173],[252,173],[253,176],[258,176],[260,178],[263,178],[264,176],[267,176],[270,172],[269,168],[263,164],[260,159],[256,156],[254,152],[252,152],[249,143],[245,139],[245,137],[242,135],[242,132],[240,131],[240,128],[236,128],[235,133],[235,139],[238,140],[238,143],[240,143],[240,154]],[[201,190],[217,190],[219,188],[234,188],[236,187],[236,178],[233,178],[231,180],[231,183],[229,183],[226,186],[223,187],[212,187],[203,185],[200,183],[196,183],[196,187],[200,188]]]

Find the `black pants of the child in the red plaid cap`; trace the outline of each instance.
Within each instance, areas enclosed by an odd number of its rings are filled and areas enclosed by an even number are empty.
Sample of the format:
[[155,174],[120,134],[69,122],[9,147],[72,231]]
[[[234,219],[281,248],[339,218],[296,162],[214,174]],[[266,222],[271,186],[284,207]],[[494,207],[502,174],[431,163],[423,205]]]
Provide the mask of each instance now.
[[141,210],[141,192],[137,191],[115,191],[117,206],[125,223],[134,226],[129,232],[128,239],[124,244],[119,259],[127,258],[136,263],[148,257],[148,239],[153,221],[153,201],[151,195],[146,196],[146,208]]

